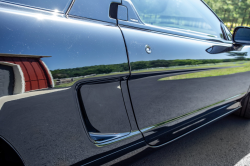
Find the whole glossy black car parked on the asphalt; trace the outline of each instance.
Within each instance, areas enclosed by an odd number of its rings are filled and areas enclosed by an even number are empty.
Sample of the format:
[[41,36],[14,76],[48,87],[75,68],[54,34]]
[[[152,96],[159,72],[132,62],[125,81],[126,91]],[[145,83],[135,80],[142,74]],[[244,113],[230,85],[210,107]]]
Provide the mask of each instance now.
[[0,165],[101,165],[250,118],[250,29],[231,35],[202,0],[0,0],[0,13]]

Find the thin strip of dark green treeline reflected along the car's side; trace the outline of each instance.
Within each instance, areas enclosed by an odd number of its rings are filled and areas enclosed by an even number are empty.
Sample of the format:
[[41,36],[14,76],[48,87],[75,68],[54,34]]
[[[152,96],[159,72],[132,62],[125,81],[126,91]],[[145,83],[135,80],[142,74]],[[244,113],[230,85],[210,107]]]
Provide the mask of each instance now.
[[[147,68],[157,67],[171,67],[171,66],[185,66],[185,65],[202,65],[202,64],[216,64],[222,62],[236,62],[239,60],[250,60],[244,56],[239,56],[237,53],[232,52],[229,56],[236,56],[235,59],[177,59],[177,60],[153,60],[153,61],[137,61],[131,62],[132,70],[141,70]],[[91,74],[108,74],[112,72],[124,72],[128,71],[129,67],[127,63],[114,64],[114,65],[96,65],[87,67],[78,67],[72,69],[57,69],[51,71],[54,78],[69,78],[86,76]]]

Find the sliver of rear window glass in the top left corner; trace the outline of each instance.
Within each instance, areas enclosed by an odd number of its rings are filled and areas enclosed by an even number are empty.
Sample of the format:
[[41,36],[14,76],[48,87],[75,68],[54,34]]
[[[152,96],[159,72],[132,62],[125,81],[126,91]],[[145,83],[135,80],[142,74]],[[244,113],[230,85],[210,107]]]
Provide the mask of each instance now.
[[71,0],[0,0],[2,2],[15,3],[24,6],[63,11]]

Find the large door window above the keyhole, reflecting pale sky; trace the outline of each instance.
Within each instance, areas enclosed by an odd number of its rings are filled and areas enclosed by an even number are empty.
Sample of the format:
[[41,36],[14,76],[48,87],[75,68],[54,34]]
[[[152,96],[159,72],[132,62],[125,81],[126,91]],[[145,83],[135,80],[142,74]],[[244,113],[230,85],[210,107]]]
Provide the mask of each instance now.
[[200,0],[131,0],[145,24],[224,39],[219,19]]

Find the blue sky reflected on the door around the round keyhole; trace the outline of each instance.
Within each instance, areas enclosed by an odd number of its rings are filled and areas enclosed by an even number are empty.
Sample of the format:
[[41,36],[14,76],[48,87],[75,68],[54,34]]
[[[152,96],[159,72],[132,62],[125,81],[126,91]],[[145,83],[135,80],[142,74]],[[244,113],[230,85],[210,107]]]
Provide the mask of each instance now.
[[[129,51],[131,62],[138,60],[150,61],[157,59],[175,60],[175,59],[231,59],[228,53],[209,54],[206,49],[213,45],[220,45],[214,42],[204,42],[201,40],[190,40],[187,38],[167,36],[145,31],[138,31],[128,28],[122,28]],[[151,47],[152,53],[147,54],[145,45]],[[221,44],[231,47],[231,44]],[[247,52],[249,49],[242,49]]]

